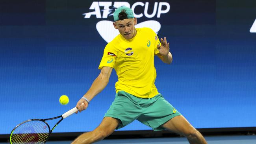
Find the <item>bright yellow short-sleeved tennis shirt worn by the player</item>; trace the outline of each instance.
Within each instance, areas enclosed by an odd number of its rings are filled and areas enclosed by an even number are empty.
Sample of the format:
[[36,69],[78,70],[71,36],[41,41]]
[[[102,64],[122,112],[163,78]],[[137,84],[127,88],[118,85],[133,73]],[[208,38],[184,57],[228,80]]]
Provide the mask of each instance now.
[[136,31],[132,39],[124,39],[119,34],[109,42],[98,68],[115,69],[118,76],[116,92],[123,90],[139,98],[152,98],[158,94],[154,84],[154,55],[159,53],[157,44],[160,41],[150,28],[136,28]]

